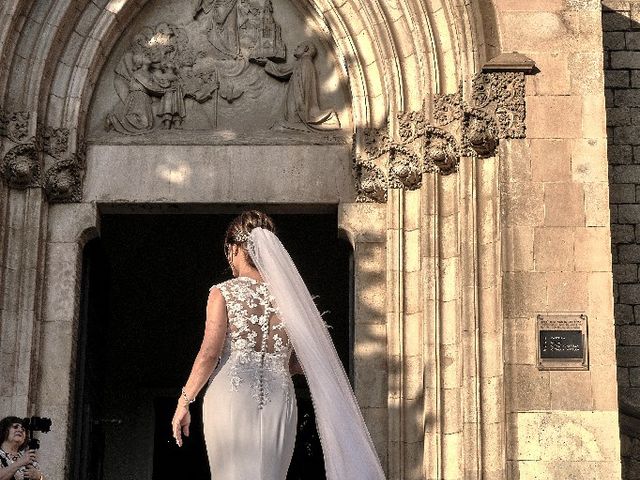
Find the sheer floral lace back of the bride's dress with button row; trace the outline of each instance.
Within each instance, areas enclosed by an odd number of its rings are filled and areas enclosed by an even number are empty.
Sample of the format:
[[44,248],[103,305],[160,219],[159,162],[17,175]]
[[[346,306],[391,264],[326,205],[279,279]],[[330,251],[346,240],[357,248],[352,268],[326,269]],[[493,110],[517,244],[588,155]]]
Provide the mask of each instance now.
[[228,327],[223,360],[231,389],[248,382],[262,407],[274,384],[289,390],[289,356],[292,351],[274,299],[265,283],[237,277],[216,285],[227,306]]

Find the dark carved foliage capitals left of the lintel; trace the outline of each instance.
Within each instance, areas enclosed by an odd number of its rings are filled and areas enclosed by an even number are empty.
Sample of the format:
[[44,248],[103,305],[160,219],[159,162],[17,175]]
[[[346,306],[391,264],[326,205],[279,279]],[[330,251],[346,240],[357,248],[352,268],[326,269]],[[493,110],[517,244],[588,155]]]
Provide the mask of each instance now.
[[[31,119],[29,112],[0,111],[0,174],[11,188],[44,187],[49,201],[78,201],[83,150],[68,152],[68,129],[43,126]],[[43,175],[45,159],[53,165]]]

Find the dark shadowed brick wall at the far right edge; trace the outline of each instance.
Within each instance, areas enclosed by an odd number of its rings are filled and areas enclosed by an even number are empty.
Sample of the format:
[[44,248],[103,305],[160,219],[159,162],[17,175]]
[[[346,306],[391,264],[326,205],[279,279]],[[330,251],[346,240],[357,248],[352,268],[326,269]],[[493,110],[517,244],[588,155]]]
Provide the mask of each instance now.
[[603,2],[622,478],[640,479],[640,1]]

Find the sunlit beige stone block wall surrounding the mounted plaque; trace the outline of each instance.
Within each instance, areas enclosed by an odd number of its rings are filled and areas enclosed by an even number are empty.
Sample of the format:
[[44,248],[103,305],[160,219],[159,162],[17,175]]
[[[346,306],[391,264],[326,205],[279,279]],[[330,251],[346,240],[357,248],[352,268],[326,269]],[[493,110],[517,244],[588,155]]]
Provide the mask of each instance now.
[[[527,138],[501,155],[507,478],[620,478],[601,4],[502,1],[536,62]],[[589,370],[537,365],[536,317],[584,313]]]

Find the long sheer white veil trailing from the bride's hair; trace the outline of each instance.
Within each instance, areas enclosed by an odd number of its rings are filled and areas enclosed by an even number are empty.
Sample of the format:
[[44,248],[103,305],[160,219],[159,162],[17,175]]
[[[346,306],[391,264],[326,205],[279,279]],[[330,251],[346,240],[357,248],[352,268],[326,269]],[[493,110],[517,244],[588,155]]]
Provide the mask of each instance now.
[[344,367],[309,290],[278,237],[251,231],[247,250],[276,299],[311,389],[328,480],[384,480]]

